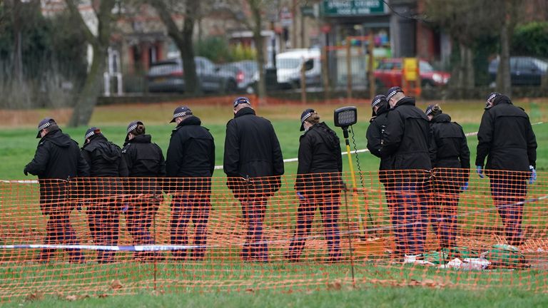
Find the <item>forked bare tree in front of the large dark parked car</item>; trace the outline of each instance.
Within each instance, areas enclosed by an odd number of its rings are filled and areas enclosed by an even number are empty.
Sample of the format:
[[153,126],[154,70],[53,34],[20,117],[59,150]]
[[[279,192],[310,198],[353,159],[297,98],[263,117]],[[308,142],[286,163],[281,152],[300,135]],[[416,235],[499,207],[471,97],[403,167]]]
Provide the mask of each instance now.
[[[196,73],[196,63],[194,62],[194,44],[193,32],[196,17],[199,14],[201,1],[170,1],[170,0],[148,0],[156,9],[163,24],[168,29],[168,35],[177,45],[181,52],[181,61],[183,61],[185,91],[193,94],[202,92],[198,83],[198,74]],[[182,7],[181,7],[182,6]],[[173,14],[178,11],[184,12],[183,29],[179,30]]]

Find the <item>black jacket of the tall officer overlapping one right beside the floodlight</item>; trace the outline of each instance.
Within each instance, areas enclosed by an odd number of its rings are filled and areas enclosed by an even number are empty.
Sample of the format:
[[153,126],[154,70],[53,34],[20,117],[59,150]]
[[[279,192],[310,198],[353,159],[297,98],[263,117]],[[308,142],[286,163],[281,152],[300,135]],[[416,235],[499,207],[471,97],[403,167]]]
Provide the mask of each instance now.
[[393,155],[391,170],[430,170],[430,123],[415,98],[400,99],[387,116],[381,155]]

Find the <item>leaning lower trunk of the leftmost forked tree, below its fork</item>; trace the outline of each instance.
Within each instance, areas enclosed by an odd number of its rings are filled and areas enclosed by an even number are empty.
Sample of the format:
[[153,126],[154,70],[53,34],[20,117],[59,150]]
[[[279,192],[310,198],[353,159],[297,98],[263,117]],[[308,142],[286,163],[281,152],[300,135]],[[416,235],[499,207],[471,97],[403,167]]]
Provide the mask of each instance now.
[[93,46],[91,68],[88,76],[86,76],[86,82],[76,98],[76,106],[74,106],[71,120],[68,122],[70,127],[88,125],[91,119],[93,108],[96,106],[97,97],[101,91],[103,72],[106,67],[107,48],[108,46],[97,46],[97,44]]

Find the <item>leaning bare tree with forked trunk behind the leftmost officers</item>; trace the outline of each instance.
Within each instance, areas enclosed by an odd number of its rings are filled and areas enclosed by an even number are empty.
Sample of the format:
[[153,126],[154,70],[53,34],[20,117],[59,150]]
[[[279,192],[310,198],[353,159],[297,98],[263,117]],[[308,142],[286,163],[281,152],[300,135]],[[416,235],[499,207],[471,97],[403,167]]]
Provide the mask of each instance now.
[[101,0],[98,4],[98,9],[93,10],[98,22],[96,35],[93,34],[83,20],[78,10],[78,0],[65,0],[65,2],[71,16],[77,21],[76,26],[78,26],[83,36],[86,37],[86,41],[93,48],[91,67],[83,88],[76,99],[76,106],[74,106],[71,120],[68,123],[68,125],[75,127],[89,123],[93,108],[96,106],[97,98],[101,91],[101,81],[106,67],[106,56],[111,40],[112,10],[116,4],[116,0]]

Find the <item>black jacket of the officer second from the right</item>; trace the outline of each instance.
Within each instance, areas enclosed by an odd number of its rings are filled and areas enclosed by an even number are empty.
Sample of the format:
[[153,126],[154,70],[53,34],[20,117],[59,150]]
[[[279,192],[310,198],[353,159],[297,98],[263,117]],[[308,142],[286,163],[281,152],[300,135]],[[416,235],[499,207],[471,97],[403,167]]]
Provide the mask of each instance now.
[[[432,118],[430,128],[433,138],[430,143],[432,168],[444,168],[442,173],[435,173],[435,176],[447,184],[462,186],[470,177],[470,150],[465,132],[445,113]],[[460,168],[462,171],[445,168]]]

